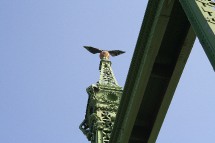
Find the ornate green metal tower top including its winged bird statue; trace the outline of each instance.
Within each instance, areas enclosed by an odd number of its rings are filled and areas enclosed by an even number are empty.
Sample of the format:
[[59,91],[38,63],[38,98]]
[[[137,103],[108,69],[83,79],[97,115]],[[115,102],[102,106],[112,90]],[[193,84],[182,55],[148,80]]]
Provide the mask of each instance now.
[[104,51],[90,46],[84,48],[93,54],[100,53],[100,78],[87,88],[89,98],[86,115],[79,128],[92,143],[108,143],[122,95],[122,87],[114,77],[109,56],[124,52]]

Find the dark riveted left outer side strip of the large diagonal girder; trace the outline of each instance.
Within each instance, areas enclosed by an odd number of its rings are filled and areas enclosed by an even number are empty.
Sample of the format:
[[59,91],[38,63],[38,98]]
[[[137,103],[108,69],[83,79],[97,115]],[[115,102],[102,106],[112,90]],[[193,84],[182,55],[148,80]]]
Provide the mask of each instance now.
[[[123,121],[122,119],[125,118],[124,113],[127,110],[127,104],[130,100],[130,95],[132,93],[132,90],[134,87],[135,81],[138,79],[138,68],[141,65],[142,61],[142,55],[145,52],[145,47],[147,44],[147,41],[150,38],[150,31],[152,29],[153,22],[156,18],[156,11],[159,8],[159,3],[163,0],[149,0],[143,24],[141,26],[141,30],[139,33],[139,37],[137,40],[136,48],[133,54],[133,58],[131,61],[131,65],[129,68],[128,76],[126,79],[126,84],[124,87],[122,99],[120,102],[120,106],[118,108],[117,117],[114,123],[114,128],[111,134],[110,143],[118,143],[117,140],[121,136],[121,132],[124,130],[122,128]],[[129,134],[130,136],[130,134]]]

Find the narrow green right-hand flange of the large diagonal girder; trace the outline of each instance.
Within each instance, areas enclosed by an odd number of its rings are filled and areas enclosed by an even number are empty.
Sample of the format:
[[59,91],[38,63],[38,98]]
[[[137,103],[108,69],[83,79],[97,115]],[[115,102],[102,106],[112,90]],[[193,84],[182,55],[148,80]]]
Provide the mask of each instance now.
[[175,89],[178,85],[179,79],[181,77],[181,74],[183,72],[184,66],[186,64],[186,61],[190,55],[193,42],[195,39],[195,34],[192,28],[189,29],[187,36],[182,44],[181,51],[178,56],[178,60],[175,64],[173,74],[170,78],[169,84],[166,88],[166,92],[163,98],[163,101],[161,102],[161,106],[158,110],[158,113],[156,115],[156,119],[148,140],[148,143],[154,143],[156,142],[157,136],[159,134],[160,128],[163,124],[164,118],[166,116],[167,110],[169,108],[169,105],[172,101]]

